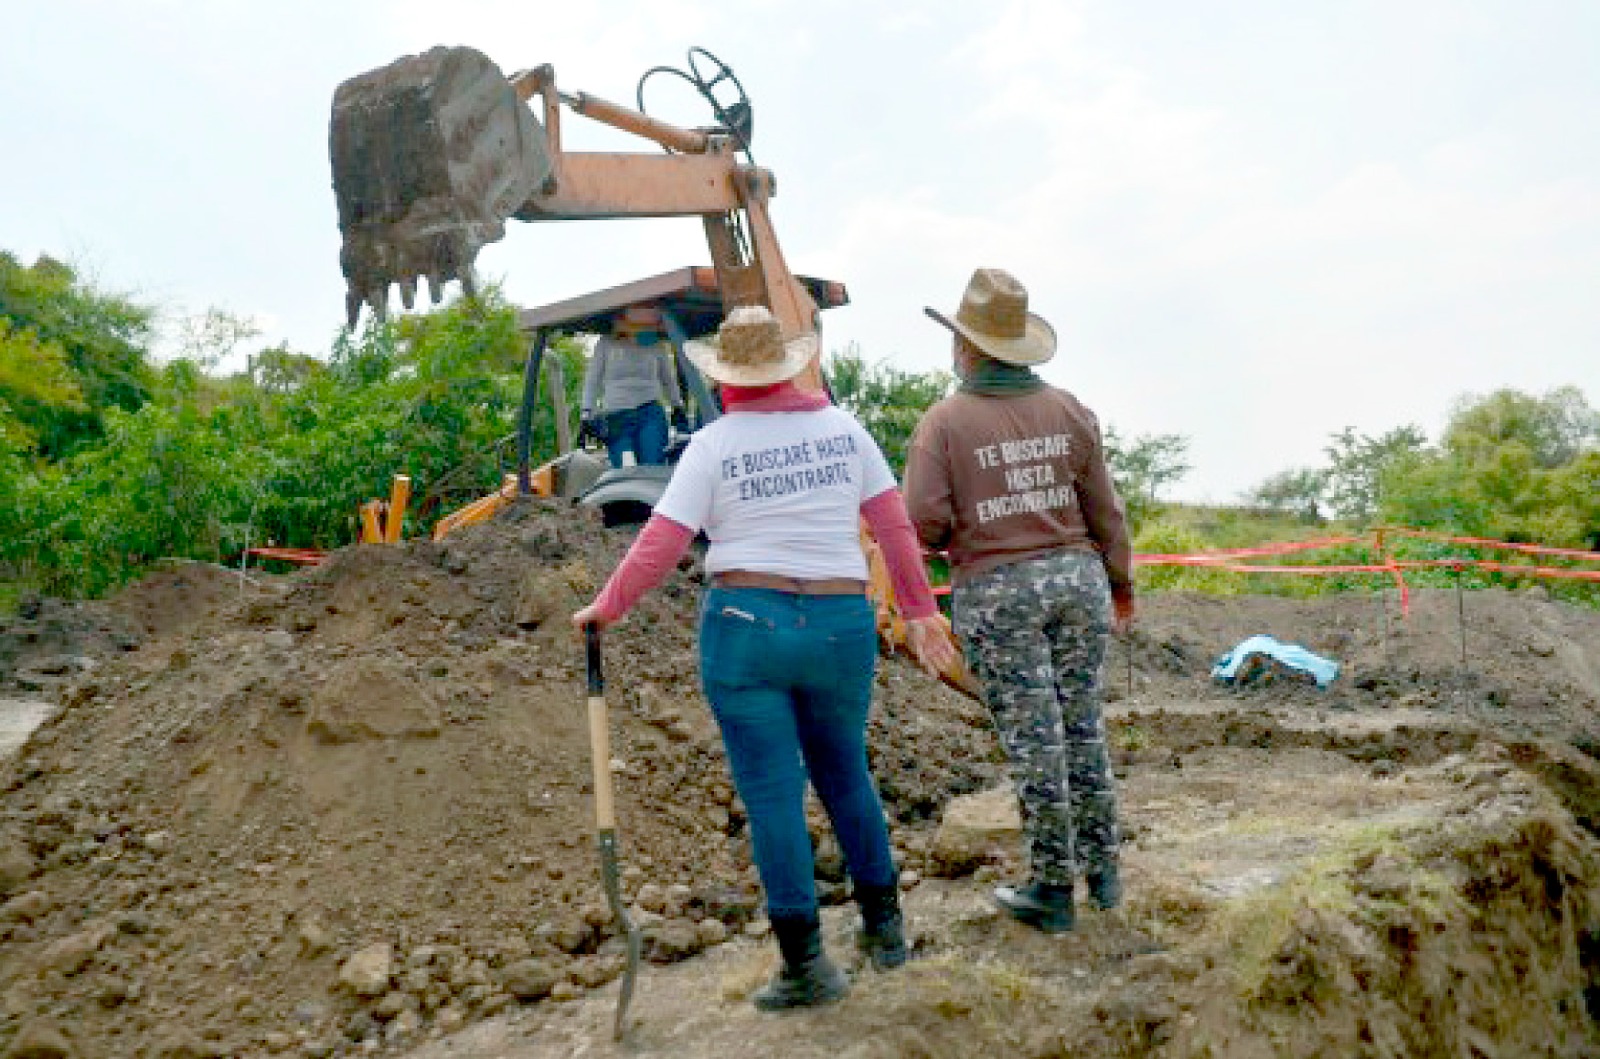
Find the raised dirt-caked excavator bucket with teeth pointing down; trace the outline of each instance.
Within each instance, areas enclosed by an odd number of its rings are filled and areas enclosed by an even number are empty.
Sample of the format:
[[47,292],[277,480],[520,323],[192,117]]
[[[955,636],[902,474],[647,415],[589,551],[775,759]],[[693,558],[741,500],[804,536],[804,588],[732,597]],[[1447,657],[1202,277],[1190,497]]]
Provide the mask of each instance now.
[[418,280],[435,302],[450,280],[470,294],[478,250],[552,171],[539,120],[472,48],[434,48],[339,85],[328,152],[350,326],[363,304],[386,315],[390,283],[406,309]]

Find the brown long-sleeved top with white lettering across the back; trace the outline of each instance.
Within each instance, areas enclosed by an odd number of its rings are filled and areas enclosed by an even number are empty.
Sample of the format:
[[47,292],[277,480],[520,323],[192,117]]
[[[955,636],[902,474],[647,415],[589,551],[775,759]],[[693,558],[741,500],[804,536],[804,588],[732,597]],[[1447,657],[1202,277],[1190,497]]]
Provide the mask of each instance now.
[[1112,592],[1133,592],[1133,545],[1094,413],[1066,390],[954,394],[934,405],[906,459],[906,506],[960,584],[1002,563],[1096,549]]

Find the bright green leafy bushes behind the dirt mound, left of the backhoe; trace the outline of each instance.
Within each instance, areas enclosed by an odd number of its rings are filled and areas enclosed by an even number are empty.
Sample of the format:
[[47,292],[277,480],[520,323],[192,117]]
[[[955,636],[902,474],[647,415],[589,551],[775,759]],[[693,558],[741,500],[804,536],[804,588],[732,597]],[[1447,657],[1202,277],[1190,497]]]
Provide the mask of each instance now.
[[[526,341],[498,291],[341,334],[326,366],[267,350],[218,379],[176,360],[136,411],[102,411],[102,438],[48,461],[0,450],[0,573],[56,595],[99,595],[165,557],[235,561],[251,544],[336,547],[395,474],[426,533],[512,469]],[[555,342],[573,389],[582,352]],[[315,365],[315,366],[314,366]],[[550,403],[534,454],[555,450]],[[438,488],[443,482],[451,488]]]

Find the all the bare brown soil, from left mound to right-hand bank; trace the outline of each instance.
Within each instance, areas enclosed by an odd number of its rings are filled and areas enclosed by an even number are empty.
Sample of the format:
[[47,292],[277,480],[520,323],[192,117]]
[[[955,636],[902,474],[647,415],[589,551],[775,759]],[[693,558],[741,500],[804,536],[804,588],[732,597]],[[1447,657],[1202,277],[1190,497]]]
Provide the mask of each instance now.
[[[110,632],[51,648],[93,665],[59,673],[59,710],[0,766],[0,1056],[611,1054],[621,957],[566,616],[626,544],[523,502],[285,579],[165,571],[96,611]],[[890,659],[872,757],[923,880],[907,901],[926,958],[864,973],[837,1017],[773,1021],[744,1000],[771,957],[746,936],[746,821],[698,693],[702,581],[686,560],[606,640],[624,889],[651,960],[629,1054],[1534,1054],[1512,1045],[1538,1019],[1600,1041],[1600,614],[1470,593],[1462,665],[1451,593],[1418,593],[1403,624],[1378,597],[1152,597],[1106,673],[1130,904],[1048,944],[982,902],[1014,849],[934,878],[941,809],[1003,768],[981,707]],[[1339,659],[1334,689],[1213,686],[1211,661],[1256,632]],[[1437,886],[1392,891],[1395,865]],[[1395,934],[1368,905],[1434,918]],[[1240,909],[1272,929],[1242,931]],[[848,953],[846,909],[829,917]],[[1478,949],[1440,941],[1458,933]],[[1467,993],[1413,979],[1474,960],[1477,1000],[1520,968],[1549,1005],[1512,1017],[1507,987],[1498,1021],[1451,1022],[1442,997]],[[1286,1014],[1312,993],[1323,1037]],[[1429,1009],[1446,1029],[1418,1029]]]

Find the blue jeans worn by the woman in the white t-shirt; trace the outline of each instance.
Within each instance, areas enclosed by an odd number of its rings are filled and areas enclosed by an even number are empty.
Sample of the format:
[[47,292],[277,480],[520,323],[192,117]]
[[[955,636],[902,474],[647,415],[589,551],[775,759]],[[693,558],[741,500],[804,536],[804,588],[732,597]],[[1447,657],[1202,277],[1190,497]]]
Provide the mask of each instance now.
[[766,913],[816,915],[808,773],[850,877],[894,883],[888,824],[867,771],[878,640],[866,597],[714,587],[699,646],[706,699],[750,816]]

